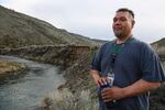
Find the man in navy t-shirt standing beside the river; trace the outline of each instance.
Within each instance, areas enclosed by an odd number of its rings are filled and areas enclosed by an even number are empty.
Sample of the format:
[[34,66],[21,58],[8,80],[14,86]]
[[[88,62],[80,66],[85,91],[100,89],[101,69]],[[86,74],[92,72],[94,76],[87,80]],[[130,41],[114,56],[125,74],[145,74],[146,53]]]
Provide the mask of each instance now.
[[113,86],[99,91],[100,110],[148,110],[148,91],[165,81],[158,56],[133,37],[134,24],[133,11],[119,9],[112,24],[117,40],[103,44],[92,59],[90,74],[99,88],[108,73],[114,74]]

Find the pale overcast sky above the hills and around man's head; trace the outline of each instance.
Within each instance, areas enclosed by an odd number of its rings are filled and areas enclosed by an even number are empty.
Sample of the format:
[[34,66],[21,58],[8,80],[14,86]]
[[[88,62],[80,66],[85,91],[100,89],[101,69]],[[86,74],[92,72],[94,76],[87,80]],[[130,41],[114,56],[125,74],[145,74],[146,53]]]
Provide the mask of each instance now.
[[112,40],[119,8],[135,13],[133,35],[147,43],[165,37],[165,0],[0,0],[6,8],[91,38]]

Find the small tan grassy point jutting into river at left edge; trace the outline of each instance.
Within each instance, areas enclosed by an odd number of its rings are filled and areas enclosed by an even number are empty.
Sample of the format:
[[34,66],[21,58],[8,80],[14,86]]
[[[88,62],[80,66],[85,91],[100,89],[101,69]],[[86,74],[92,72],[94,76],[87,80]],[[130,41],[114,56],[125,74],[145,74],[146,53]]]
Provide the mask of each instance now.
[[25,69],[24,65],[0,58],[0,78],[11,75],[13,72]]

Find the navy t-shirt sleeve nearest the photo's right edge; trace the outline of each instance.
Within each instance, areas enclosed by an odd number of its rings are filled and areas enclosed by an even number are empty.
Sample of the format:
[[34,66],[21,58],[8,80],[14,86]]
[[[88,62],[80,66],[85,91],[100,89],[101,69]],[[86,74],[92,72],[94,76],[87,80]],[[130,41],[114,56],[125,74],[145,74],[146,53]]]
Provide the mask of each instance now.
[[160,57],[147,44],[143,45],[141,54],[142,79],[147,81],[165,81],[165,74]]

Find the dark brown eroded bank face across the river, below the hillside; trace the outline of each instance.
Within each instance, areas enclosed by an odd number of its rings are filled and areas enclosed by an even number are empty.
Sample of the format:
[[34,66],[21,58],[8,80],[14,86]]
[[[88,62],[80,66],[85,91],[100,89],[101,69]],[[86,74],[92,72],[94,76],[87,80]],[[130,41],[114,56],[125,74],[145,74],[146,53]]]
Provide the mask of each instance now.
[[26,46],[20,48],[1,48],[1,55],[16,55],[28,59],[63,66],[73,65],[80,55],[89,52],[89,46]]

